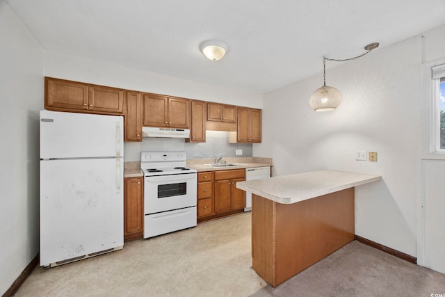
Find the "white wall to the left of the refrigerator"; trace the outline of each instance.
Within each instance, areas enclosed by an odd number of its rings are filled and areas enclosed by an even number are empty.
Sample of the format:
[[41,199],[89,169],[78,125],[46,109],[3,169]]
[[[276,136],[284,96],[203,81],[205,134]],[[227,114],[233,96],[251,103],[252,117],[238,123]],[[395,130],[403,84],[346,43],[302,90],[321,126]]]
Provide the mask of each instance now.
[[39,250],[43,49],[0,1],[0,294]]

